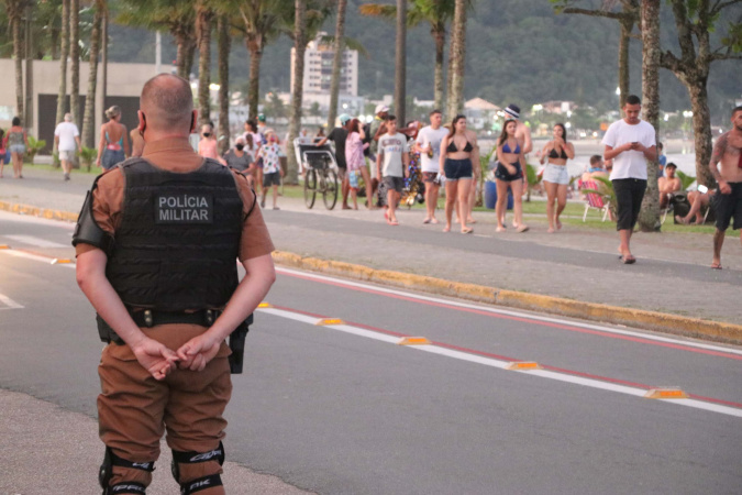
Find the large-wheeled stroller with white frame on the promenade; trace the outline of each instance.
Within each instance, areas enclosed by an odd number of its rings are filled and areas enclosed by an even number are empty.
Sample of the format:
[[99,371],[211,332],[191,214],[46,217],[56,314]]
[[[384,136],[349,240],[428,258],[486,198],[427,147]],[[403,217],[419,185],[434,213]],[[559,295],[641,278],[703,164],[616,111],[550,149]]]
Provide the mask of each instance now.
[[317,194],[322,195],[324,207],[332,210],[337,204],[337,162],[329,145],[317,146],[303,138],[294,140],[299,173],[304,177],[304,205],[311,209]]

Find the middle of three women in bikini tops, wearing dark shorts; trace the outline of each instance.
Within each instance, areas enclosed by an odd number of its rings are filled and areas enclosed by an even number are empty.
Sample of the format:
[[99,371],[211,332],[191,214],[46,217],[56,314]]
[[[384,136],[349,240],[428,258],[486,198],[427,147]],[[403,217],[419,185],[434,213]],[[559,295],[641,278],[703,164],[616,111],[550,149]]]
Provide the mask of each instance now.
[[512,189],[513,210],[516,220],[513,227],[518,232],[525,232],[529,228],[523,223],[523,168],[525,157],[523,150],[516,138],[517,122],[514,119],[505,121],[502,133],[497,141],[497,169],[495,184],[497,185],[497,215],[496,232],[505,232],[505,210],[508,201],[508,187]]

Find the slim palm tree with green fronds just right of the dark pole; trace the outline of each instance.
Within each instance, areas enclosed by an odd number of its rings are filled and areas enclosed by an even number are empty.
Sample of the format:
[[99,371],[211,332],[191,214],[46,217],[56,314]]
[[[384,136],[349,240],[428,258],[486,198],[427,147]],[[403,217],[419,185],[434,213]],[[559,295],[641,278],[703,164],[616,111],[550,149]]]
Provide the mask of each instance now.
[[[469,9],[472,2],[468,2]],[[443,59],[445,55],[446,25],[453,19],[455,0],[411,0],[410,9],[407,12],[407,24],[410,28],[419,25],[421,22],[430,24],[430,34],[435,43],[435,72],[433,92],[435,108],[443,108]],[[364,15],[383,16],[395,19],[397,16],[397,7],[380,3],[366,3],[361,6],[361,13]]]

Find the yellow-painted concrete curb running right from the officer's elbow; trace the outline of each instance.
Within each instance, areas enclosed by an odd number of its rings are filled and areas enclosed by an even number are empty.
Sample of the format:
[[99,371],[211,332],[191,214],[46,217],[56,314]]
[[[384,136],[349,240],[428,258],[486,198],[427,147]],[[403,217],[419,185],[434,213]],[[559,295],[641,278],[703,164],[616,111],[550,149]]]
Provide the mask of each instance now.
[[646,311],[643,309],[584,302],[516,290],[505,290],[484,285],[464,284],[423,275],[374,270],[351,263],[319,260],[315,257],[302,257],[298,254],[281,251],[274,252],[273,258],[277,264],[284,266],[420,290],[441,296],[468,299],[495,306],[542,311],[584,320],[625,324],[683,337],[742,344],[742,326],[740,324],[701,320],[698,318],[686,318],[676,315]]

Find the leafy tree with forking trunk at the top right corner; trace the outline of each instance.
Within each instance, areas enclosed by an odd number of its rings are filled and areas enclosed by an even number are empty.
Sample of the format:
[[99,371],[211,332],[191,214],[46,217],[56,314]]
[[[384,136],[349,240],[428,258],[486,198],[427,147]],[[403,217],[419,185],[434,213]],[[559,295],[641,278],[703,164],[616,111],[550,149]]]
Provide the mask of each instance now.
[[[711,63],[742,59],[742,23],[731,8],[742,0],[669,0],[679,54],[663,51],[660,65],[671,70],[688,90],[693,110],[694,139],[696,141],[696,175],[698,184],[712,185],[708,168],[711,158],[711,114],[708,103],[708,78]],[[738,11],[739,12],[739,11]],[[723,20],[723,21],[722,21]],[[720,46],[711,46],[711,33],[724,24],[727,35]]]

